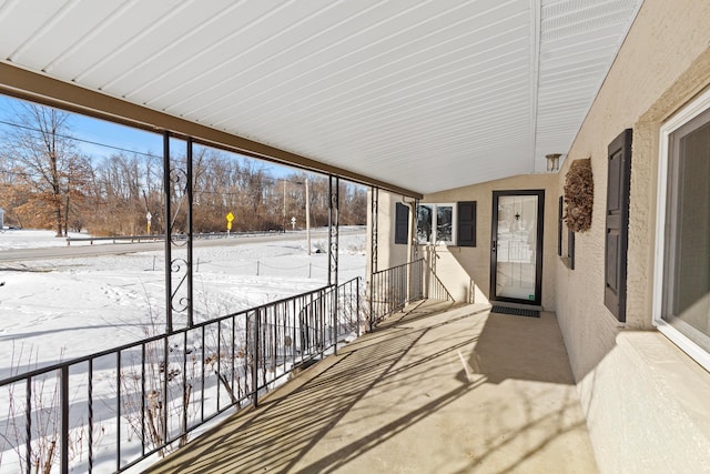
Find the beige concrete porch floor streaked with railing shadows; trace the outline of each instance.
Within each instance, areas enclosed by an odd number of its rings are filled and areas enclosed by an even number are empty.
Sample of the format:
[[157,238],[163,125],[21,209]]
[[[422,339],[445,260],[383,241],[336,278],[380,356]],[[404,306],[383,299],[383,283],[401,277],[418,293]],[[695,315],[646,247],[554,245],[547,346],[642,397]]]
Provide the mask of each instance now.
[[557,320],[419,303],[153,473],[595,473]]

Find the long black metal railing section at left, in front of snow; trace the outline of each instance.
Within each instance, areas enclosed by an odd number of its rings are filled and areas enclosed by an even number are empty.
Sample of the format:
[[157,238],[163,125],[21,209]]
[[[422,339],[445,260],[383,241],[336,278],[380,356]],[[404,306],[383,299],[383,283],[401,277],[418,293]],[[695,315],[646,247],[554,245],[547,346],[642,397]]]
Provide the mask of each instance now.
[[164,455],[359,335],[359,292],[353,279],[0,381],[0,463],[121,472]]

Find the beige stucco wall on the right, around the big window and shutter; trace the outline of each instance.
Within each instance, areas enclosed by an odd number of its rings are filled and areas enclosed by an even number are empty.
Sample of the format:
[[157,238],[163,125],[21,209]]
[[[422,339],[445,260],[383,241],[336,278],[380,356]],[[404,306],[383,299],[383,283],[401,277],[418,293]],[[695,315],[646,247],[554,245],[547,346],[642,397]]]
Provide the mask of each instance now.
[[[592,226],[576,238],[576,270],[558,262],[555,280],[602,472],[710,472],[710,374],[656,332],[651,316],[659,129],[710,84],[709,26],[707,0],[646,0],[559,173],[561,186],[570,162],[591,157]],[[628,302],[619,324],[604,305],[607,147],[627,128]]]

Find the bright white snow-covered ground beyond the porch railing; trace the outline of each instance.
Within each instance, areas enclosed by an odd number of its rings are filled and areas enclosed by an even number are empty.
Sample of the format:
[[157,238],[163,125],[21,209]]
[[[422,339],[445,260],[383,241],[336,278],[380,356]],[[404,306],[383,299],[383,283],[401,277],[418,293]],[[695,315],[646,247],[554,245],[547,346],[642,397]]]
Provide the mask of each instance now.
[[[0,232],[3,254],[65,245],[51,231]],[[327,249],[327,242],[314,239],[313,246]],[[342,232],[339,250],[339,281],[364,276],[364,229]],[[194,261],[197,322],[322,288],[327,281],[327,253],[307,255],[305,235],[196,246]],[[164,275],[163,251],[21,262],[0,259],[0,380],[144,339],[155,325],[164,327]],[[175,317],[180,325],[180,316]],[[3,401],[7,397],[0,396],[2,417],[8,413]],[[3,453],[0,473],[18,470],[13,456],[11,451]]]

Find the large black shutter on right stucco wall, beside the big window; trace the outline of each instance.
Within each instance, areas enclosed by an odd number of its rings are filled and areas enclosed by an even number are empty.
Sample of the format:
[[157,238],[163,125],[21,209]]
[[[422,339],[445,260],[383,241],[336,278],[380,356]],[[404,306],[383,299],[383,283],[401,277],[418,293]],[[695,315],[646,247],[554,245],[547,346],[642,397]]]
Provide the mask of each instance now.
[[626,272],[631,189],[631,129],[609,144],[604,304],[626,321]]

